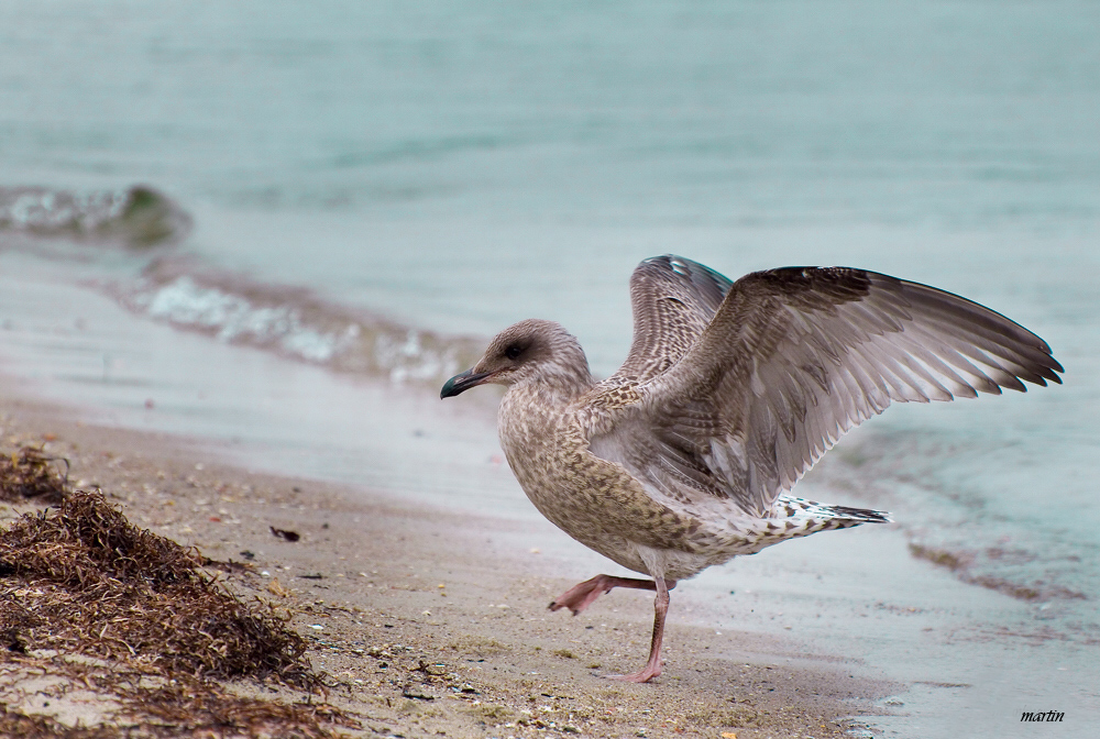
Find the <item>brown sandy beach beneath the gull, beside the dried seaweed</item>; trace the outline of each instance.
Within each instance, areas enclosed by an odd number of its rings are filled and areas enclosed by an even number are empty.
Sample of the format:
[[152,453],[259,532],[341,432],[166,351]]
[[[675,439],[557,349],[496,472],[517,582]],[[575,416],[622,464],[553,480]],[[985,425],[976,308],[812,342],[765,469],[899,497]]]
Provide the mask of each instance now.
[[[133,523],[249,563],[230,587],[294,614],[328,701],[362,724],[339,728],[352,736],[838,737],[860,727],[846,717],[876,713],[872,702],[898,690],[793,643],[676,622],[658,681],[608,681],[601,675],[644,662],[651,597],[614,592],[575,618],[549,613],[573,582],[531,551],[522,522],[227,466],[198,440],[84,424],[4,393],[0,451],[41,444]],[[0,523],[33,508],[0,506]],[[796,666],[772,664],[779,657]],[[9,709],[89,726],[112,705],[88,691],[45,705],[26,674],[0,673]],[[304,698],[274,685],[233,690]]]

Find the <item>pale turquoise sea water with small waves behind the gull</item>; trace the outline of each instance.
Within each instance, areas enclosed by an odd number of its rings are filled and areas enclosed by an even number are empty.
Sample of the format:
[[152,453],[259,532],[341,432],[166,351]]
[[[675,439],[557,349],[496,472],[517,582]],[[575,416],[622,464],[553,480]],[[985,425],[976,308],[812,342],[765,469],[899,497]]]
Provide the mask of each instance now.
[[0,4],[0,371],[91,418],[531,516],[438,386],[532,316],[613,373],[646,256],[1046,339],[1064,386],[891,408],[800,485],[895,527],[693,584],[904,682],[889,736],[1100,718],[1098,238],[1090,2]]

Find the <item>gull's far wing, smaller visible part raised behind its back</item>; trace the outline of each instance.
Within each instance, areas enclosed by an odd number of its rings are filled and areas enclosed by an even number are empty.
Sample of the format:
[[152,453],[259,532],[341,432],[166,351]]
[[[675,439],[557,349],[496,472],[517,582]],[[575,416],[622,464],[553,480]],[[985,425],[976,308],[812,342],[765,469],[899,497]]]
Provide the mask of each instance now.
[[630,275],[634,341],[612,382],[645,382],[688,353],[722,305],[728,279],[702,264],[666,254]]

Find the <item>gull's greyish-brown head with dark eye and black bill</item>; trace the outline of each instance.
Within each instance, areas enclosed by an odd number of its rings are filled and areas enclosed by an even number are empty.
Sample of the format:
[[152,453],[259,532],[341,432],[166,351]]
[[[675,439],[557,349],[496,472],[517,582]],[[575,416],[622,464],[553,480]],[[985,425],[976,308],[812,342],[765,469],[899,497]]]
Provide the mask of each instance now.
[[553,321],[532,318],[498,333],[473,370],[447,380],[439,397],[485,383],[536,384],[575,394],[592,385],[592,375],[584,350],[569,331]]

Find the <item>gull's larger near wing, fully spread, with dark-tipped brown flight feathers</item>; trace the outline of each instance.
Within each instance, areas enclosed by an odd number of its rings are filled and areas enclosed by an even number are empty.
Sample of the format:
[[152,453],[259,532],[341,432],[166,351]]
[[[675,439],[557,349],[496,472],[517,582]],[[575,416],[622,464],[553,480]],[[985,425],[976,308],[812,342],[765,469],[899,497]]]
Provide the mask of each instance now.
[[950,293],[861,269],[771,269],[734,284],[591,448],[673,499],[763,516],[891,401],[1024,390],[1059,372],[1042,339]]

